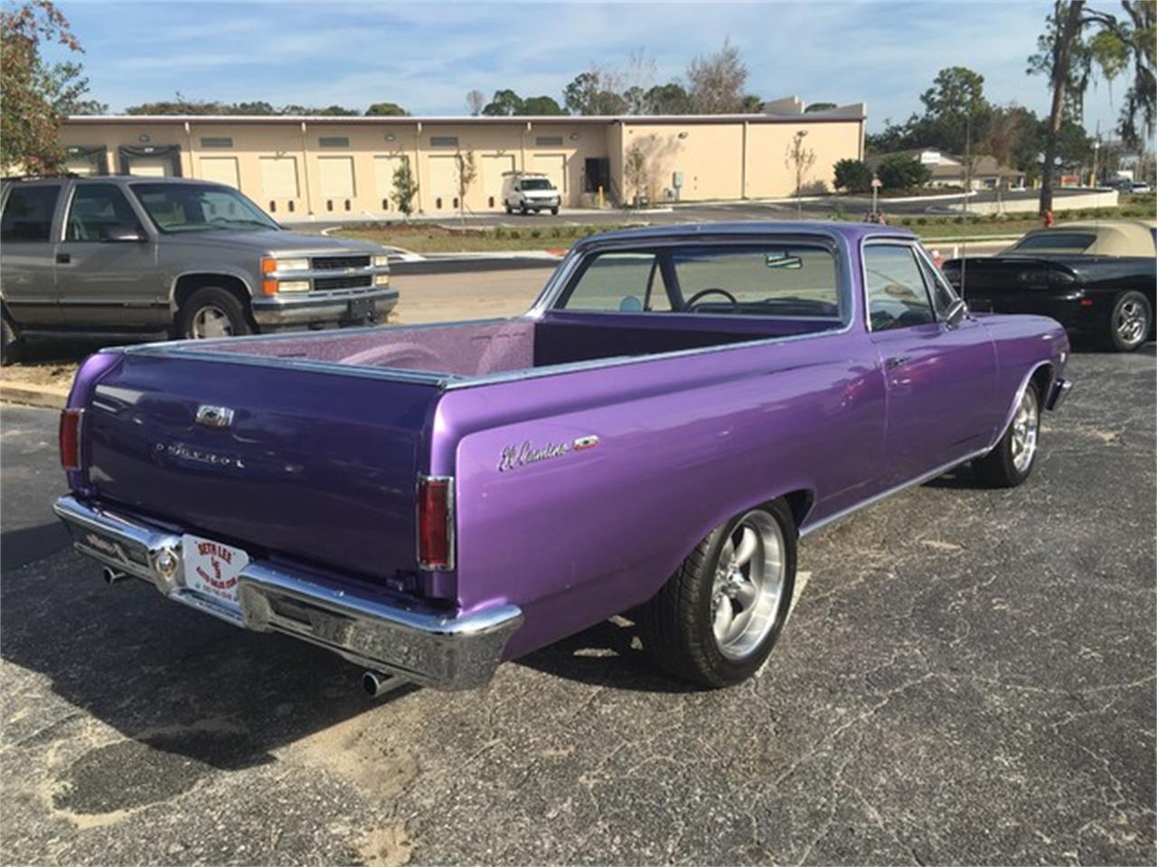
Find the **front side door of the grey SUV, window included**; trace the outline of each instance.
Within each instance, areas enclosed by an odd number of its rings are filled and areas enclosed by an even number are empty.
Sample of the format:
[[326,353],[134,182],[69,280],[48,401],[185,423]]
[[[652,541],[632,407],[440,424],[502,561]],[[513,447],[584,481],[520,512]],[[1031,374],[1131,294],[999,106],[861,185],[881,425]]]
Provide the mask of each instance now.
[[[133,240],[124,239],[135,237]],[[120,238],[120,239],[118,239]],[[65,326],[164,327],[168,288],[156,238],[116,184],[78,183],[57,245],[57,291]]]

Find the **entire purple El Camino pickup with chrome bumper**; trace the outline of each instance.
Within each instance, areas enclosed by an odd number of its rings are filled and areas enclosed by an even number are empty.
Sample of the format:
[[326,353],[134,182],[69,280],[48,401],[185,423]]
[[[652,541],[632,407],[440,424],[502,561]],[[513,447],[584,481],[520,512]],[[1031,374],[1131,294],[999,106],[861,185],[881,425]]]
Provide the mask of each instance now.
[[61,416],[82,554],[465,689],[632,612],[708,686],[767,660],[799,536],[966,461],[1032,472],[1068,341],[972,317],[916,239],[742,223],[575,246],[516,319],[98,353]]

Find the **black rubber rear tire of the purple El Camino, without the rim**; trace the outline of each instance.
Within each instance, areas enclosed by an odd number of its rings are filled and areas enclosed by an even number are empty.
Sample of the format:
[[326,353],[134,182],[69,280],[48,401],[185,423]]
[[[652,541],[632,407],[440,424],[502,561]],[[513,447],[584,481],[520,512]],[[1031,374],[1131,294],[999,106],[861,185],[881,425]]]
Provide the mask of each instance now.
[[[759,516],[779,528],[782,563],[779,596],[771,613],[769,627],[742,657],[728,654],[713,628],[713,601],[717,594],[716,576],[721,555],[745,521]],[[771,525],[767,525],[768,527]],[[735,548],[730,549],[735,551]],[[762,549],[761,549],[762,550]],[[752,509],[716,527],[687,556],[658,594],[639,610],[643,647],[655,662],[680,680],[701,687],[720,688],[751,677],[767,660],[791,605],[796,572],[796,528],[791,510],[782,501]],[[730,605],[730,602],[728,602]]]

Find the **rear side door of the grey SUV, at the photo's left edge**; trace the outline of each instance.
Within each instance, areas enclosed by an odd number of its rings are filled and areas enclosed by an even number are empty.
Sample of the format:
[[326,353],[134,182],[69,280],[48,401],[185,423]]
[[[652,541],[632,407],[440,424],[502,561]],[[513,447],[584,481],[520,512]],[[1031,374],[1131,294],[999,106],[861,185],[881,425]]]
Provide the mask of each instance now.
[[17,326],[60,325],[53,239],[58,235],[59,181],[14,180],[7,185],[0,217],[0,296]]

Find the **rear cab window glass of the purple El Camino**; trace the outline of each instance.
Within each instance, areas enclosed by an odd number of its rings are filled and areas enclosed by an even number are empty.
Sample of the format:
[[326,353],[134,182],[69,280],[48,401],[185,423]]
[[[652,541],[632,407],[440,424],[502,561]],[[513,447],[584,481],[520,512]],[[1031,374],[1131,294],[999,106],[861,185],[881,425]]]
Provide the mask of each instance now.
[[846,321],[837,253],[821,243],[592,252],[554,310]]

